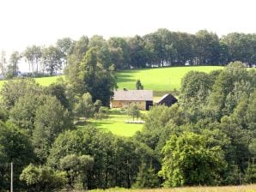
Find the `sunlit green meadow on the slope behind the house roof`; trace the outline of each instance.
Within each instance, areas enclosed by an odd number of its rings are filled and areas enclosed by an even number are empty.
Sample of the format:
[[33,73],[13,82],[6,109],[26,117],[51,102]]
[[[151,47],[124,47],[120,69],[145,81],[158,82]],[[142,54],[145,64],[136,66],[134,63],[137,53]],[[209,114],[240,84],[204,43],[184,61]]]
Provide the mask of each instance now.
[[132,69],[119,71],[117,75],[119,89],[135,89],[139,79],[144,89],[154,91],[170,91],[180,89],[184,75],[191,70],[210,73],[212,70],[223,69],[220,66],[169,67],[158,69]]

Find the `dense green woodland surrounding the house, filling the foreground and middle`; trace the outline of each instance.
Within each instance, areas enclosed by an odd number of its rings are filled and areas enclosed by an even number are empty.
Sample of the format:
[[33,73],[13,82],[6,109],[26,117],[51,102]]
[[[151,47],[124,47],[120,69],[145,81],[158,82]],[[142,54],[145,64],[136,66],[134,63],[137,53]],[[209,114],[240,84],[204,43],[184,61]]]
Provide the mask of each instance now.
[[112,62],[99,47],[84,57],[74,48],[68,81],[50,87],[26,78],[5,82],[0,191],[9,189],[10,162],[16,191],[256,182],[255,69],[233,62],[210,74],[189,72],[179,103],[152,107],[143,130],[125,138],[89,123],[77,127],[81,117],[104,113],[116,88]]

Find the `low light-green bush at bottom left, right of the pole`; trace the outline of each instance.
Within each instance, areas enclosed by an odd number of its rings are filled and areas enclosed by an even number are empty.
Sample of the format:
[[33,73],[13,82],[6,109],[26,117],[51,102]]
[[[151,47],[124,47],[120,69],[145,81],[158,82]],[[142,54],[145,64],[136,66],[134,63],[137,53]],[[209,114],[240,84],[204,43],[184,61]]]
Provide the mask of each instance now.
[[27,184],[27,191],[53,191],[63,189],[67,183],[62,171],[54,171],[47,166],[27,165],[22,171],[20,180]]

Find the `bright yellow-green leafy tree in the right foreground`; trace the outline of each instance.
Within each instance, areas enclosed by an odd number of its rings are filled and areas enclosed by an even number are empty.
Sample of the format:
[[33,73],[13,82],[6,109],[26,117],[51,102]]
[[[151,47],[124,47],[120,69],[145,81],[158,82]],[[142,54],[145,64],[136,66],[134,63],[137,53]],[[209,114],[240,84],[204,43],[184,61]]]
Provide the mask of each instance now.
[[203,135],[185,132],[172,135],[162,149],[162,170],[165,186],[212,185],[220,182],[225,167],[220,147],[206,147]]

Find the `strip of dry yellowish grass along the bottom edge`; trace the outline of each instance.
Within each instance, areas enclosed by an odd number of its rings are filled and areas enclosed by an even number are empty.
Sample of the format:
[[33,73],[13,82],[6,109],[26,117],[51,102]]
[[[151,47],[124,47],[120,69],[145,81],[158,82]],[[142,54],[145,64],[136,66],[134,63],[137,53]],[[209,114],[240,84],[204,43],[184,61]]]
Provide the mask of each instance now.
[[[91,192],[255,192],[256,184],[224,187],[183,187],[169,189],[94,189]],[[79,191],[74,191],[79,192]]]

